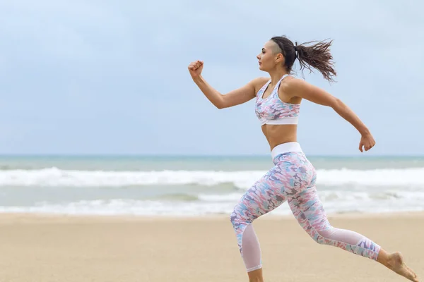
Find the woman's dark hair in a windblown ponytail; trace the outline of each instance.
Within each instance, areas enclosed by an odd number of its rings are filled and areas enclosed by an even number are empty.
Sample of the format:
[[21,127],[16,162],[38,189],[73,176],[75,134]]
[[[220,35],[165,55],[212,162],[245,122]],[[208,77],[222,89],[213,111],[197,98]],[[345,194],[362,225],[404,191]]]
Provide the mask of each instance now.
[[[300,71],[302,69],[307,68],[312,72],[312,68],[317,69],[326,80],[334,81],[333,76],[336,76],[336,71],[334,70],[334,62],[332,61],[333,56],[329,51],[329,47],[331,46],[332,40],[330,42],[324,41],[311,41],[305,42],[298,45],[293,44],[285,36],[277,36],[272,37],[271,40],[275,42],[278,47],[280,47],[281,52],[285,58],[285,68],[290,73],[293,68],[293,64],[295,63],[295,59],[298,58],[300,63]],[[312,44],[310,46],[305,46],[305,44]],[[296,54],[296,52],[298,54]]]

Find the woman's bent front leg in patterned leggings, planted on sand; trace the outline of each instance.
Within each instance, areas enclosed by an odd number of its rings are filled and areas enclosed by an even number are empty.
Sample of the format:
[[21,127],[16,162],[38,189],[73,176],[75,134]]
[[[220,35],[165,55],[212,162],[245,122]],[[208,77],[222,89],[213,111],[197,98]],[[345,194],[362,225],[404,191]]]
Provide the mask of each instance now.
[[263,281],[261,249],[252,222],[310,185],[314,171],[301,153],[283,154],[276,166],[247,190],[230,219],[250,281]]

